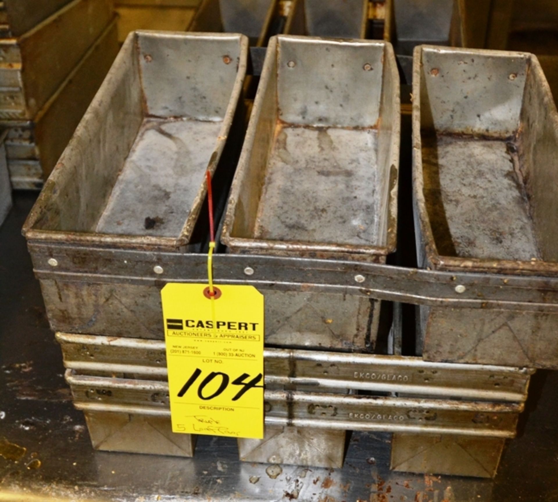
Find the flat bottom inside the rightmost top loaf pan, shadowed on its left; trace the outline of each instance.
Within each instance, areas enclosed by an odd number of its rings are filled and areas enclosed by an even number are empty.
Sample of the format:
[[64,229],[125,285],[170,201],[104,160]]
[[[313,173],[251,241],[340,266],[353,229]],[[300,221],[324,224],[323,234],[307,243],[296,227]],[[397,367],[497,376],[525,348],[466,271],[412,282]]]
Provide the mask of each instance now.
[[504,139],[423,136],[425,199],[440,254],[541,258],[516,151]]

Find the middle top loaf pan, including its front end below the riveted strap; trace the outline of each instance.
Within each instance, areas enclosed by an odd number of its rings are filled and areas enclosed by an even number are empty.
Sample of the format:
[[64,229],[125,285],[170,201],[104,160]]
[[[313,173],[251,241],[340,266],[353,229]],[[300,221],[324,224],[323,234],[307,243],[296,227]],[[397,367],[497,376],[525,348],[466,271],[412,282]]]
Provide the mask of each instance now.
[[[385,262],[396,241],[399,107],[389,44],[273,37],[223,225],[229,251]],[[268,344],[374,348],[377,301],[264,294]]]

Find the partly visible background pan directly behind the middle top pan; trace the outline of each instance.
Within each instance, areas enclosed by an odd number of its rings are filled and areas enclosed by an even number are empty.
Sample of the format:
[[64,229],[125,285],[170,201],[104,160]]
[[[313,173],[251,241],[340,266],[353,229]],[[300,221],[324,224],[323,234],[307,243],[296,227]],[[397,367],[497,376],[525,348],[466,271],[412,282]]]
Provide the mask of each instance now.
[[294,0],[285,33],[341,39],[365,39],[368,0]]

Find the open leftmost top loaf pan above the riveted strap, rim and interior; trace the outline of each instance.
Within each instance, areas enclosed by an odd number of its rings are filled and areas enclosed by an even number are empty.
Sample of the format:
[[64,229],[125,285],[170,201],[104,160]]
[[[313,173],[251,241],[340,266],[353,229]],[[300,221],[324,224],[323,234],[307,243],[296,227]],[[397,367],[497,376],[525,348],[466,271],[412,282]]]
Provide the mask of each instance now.
[[199,247],[205,171],[223,192],[234,168],[222,154],[242,105],[247,50],[242,35],[129,35],[31,211],[27,238]]

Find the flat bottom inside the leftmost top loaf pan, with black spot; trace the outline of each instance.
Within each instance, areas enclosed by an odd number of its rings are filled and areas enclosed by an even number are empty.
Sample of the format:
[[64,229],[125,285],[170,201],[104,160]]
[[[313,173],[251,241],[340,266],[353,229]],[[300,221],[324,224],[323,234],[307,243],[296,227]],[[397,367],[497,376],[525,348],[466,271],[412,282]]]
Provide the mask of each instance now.
[[96,231],[174,237],[193,206],[222,121],[143,121]]

